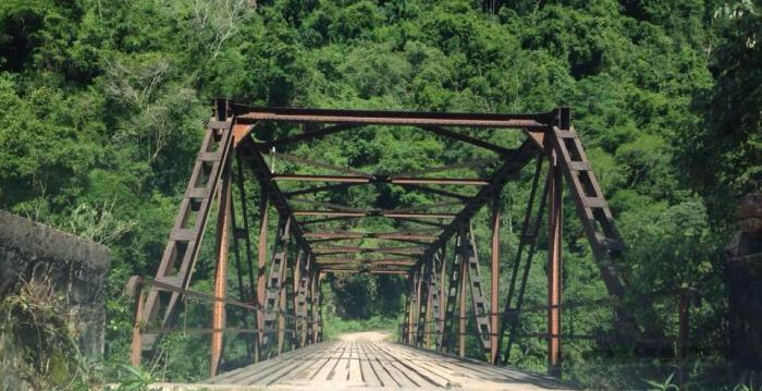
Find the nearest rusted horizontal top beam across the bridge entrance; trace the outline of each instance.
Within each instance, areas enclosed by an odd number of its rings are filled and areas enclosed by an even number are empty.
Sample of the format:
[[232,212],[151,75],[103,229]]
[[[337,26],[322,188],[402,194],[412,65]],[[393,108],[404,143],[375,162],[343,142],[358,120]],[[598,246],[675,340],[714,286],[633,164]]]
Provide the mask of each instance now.
[[331,110],[297,108],[258,108],[231,105],[234,113],[245,121],[319,122],[334,124],[437,125],[464,127],[538,129],[552,120],[552,113],[537,114],[474,114],[410,111]]

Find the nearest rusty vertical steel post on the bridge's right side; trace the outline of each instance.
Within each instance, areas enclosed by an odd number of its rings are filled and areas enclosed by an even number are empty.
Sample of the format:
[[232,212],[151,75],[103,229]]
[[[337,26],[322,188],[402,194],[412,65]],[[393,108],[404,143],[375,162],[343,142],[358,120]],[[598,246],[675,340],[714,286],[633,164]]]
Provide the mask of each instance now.
[[562,171],[558,156],[550,155],[548,192],[548,374],[561,376],[561,281],[562,281]]

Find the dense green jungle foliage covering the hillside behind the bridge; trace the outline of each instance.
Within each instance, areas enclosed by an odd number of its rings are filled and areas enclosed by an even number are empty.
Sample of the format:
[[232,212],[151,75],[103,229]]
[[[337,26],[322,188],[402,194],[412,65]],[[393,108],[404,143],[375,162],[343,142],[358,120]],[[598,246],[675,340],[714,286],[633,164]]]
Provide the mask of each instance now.
[[[212,98],[466,112],[568,105],[628,246],[634,297],[687,286],[701,294],[691,314],[700,382],[726,354],[723,246],[735,230],[733,213],[762,176],[761,38],[757,0],[515,0],[496,12],[474,0],[3,0],[0,208],[111,248],[107,361],[118,367],[128,357],[132,322],[124,283],[156,272]],[[518,139],[479,134],[504,145]],[[484,156],[391,127],[291,152],[386,173]],[[503,288],[530,176],[501,197]],[[249,194],[256,203],[254,186]],[[426,195],[370,187],[320,200],[404,207]],[[605,297],[565,203],[564,300]],[[256,221],[258,208],[250,210]],[[474,221],[481,259],[489,258],[488,225],[484,210]],[[201,252],[196,290],[209,290],[212,254]],[[543,257],[530,276],[528,306],[545,302]],[[395,325],[404,289],[394,277],[332,278],[327,327],[347,319]],[[674,301],[654,305],[646,321],[674,335]],[[206,319],[201,307],[190,309],[190,321]],[[610,332],[611,313],[565,313],[564,329]],[[542,314],[523,317],[523,332],[544,328]],[[173,380],[204,377],[208,347],[198,346],[208,344],[170,339],[157,367]],[[469,346],[478,357],[475,339]],[[513,362],[543,370],[544,349],[539,339],[523,339]],[[594,388],[623,387],[620,372],[629,377],[622,381],[637,382],[674,371],[641,372],[630,353],[612,355],[590,341],[569,341],[564,363],[568,376]]]

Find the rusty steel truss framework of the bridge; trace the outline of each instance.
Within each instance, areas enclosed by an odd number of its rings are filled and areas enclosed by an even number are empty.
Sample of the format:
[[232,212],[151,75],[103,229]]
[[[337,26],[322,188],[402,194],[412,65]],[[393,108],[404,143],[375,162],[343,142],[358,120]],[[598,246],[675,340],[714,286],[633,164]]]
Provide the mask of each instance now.
[[[267,140],[262,139],[267,132],[258,133],[286,124],[299,124],[302,131]],[[491,157],[388,175],[276,151],[341,132],[378,126],[411,127],[483,149]],[[519,132],[524,140],[508,148],[463,132],[475,129]],[[330,173],[274,173],[268,164],[273,158]],[[483,173],[486,168],[491,173],[481,178],[441,174],[452,170]],[[525,178],[531,178],[530,196],[517,254],[512,259],[507,296],[501,297],[499,272],[506,257],[501,256],[499,197],[506,183],[518,180],[523,171],[530,173],[525,172]],[[261,192],[258,205],[251,205],[255,198],[247,194],[253,186],[246,183],[251,179]],[[361,209],[312,197],[373,184],[426,194],[430,203]],[[136,298],[132,363],[139,365],[144,355],[159,349],[162,335],[181,330],[211,335],[212,376],[231,369],[224,365],[225,334],[243,341],[249,364],[316,344],[322,339],[322,278],[328,273],[371,273],[407,279],[401,342],[464,356],[465,335],[472,332],[487,362],[507,364],[517,338],[529,270],[542,237],[548,241],[543,243],[548,254],[548,305],[543,309],[548,329],[542,338],[548,344],[549,374],[560,375],[564,191],[570,193],[609,295],[622,297],[626,282],[617,266],[625,262],[624,245],[568,108],[529,114],[434,113],[260,108],[216,100],[156,277],[133,277],[127,283],[127,293]],[[258,224],[251,221],[253,208],[259,209]],[[490,209],[492,233],[487,274],[471,223],[483,208]],[[268,210],[273,209],[278,221],[274,243],[269,244],[272,233],[268,232]],[[201,293],[192,291],[190,283],[213,210],[214,283],[211,293]],[[367,232],[346,228],[365,218],[390,219],[400,229]],[[336,223],[344,223],[344,229],[331,228]],[[546,231],[541,232],[541,228]],[[372,243],[379,245],[357,244],[365,239],[373,239]],[[229,261],[234,261],[238,271],[233,292],[237,298],[228,293]],[[188,298],[211,303],[209,328],[180,327],[183,302]],[[470,315],[468,307],[472,309]],[[235,327],[226,323],[232,308],[243,314],[238,317],[241,325]],[[472,316],[475,330],[467,330],[467,315]],[[620,330],[642,333],[623,306],[616,306],[615,318]]]

